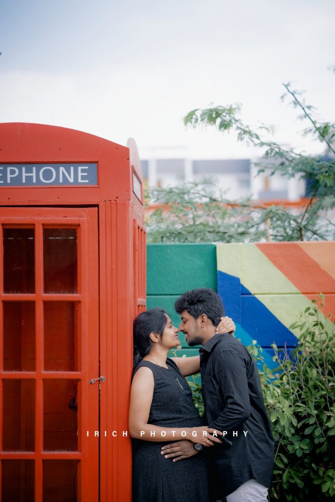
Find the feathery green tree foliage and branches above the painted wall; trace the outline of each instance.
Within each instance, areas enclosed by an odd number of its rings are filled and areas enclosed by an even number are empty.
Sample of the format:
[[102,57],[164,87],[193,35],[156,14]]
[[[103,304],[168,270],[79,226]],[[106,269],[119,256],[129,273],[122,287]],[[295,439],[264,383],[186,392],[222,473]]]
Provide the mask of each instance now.
[[261,124],[252,129],[240,118],[241,105],[198,108],[184,117],[186,126],[215,127],[219,132],[234,132],[237,140],[259,147],[263,152],[256,163],[258,173],[267,176],[302,178],[308,186],[308,201],[301,210],[284,206],[270,207],[251,200],[232,202],[214,182],[185,183],[177,187],[153,188],[147,192],[159,207],[148,217],[149,242],[247,242],[267,240],[318,240],[335,238],[335,225],[330,212],[335,208],[335,124],[322,122],[312,113],[302,93],[284,84],[282,99],[308,121],[303,135],[311,135],[324,145],[324,156],[313,157],[288,149],[263,136],[274,134]]

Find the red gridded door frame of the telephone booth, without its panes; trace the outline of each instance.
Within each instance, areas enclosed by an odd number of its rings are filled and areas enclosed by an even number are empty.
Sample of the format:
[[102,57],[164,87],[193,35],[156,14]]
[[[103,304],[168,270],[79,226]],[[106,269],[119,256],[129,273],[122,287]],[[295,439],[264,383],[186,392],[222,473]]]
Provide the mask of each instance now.
[[[24,214],[24,215],[23,215]],[[50,486],[43,482],[43,469],[46,462],[54,461],[52,472],[63,475],[64,466],[74,466],[78,462],[75,471],[77,479],[74,487],[75,496],[81,502],[97,502],[99,500],[99,444],[93,431],[99,429],[99,382],[90,385],[90,380],[99,376],[99,302],[98,302],[98,218],[97,208],[2,208],[0,218],[0,256],[4,256],[3,230],[15,228],[34,229],[35,242],[35,292],[34,293],[9,293],[4,292],[4,270],[3,260],[0,260],[0,398],[3,405],[3,386],[8,387],[8,383],[33,382],[35,392],[34,409],[34,446],[32,451],[9,451],[10,448],[3,448],[3,441],[8,440],[1,434],[1,458],[4,465],[12,460],[32,460],[34,463],[34,498],[35,502],[49,502],[50,500],[61,500],[57,494],[50,495]],[[77,291],[75,293],[45,293],[43,284],[43,231],[46,229],[75,229],[77,234]],[[57,238],[57,237],[56,237]],[[6,370],[4,368],[4,306],[7,308],[8,302],[32,302],[35,306],[35,370],[18,371]],[[74,304],[77,312],[76,329],[77,342],[75,344],[76,370],[45,370],[46,360],[44,351],[47,349],[44,338],[44,313],[46,305]],[[74,307],[72,308],[72,310]],[[50,344],[50,340],[48,341]],[[44,449],[44,427],[46,427],[48,409],[46,403],[52,404],[52,395],[48,397],[44,388],[50,388],[55,384],[62,386],[67,381],[77,383],[76,403],[77,411],[77,448],[71,451],[50,451],[52,448]],[[18,384],[20,385],[20,384]],[[24,388],[24,386],[23,386]],[[9,395],[10,397],[11,395]],[[58,396],[58,395],[57,395]],[[32,399],[21,392],[20,406],[25,400]],[[57,397],[58,399],[58,397]],[[8,404],[9,403],[9,404]],[[11,406],[10,400],[6,404]],[[4,407],[1,406],[1,410]],[[69,412],[68,412],[69,413]],[[57,413],[56,413],[57,414]],[[65,417],[65,415],[63,415]],[[3,413],[0,414],[0,430],[3,431]],[[8,423],[8,417],[5,417]],[[50,417],[49,417],[50,418]],[[57,420],[56,420],[57,421]],[[22,424],[21,424],[22,425]],[[49,436],[52,430],[49,426]],[[91,432],[87,437],[86,430]],[[52,434],[52,433],[51,433]],[[57,436],[55,436],[57,437]],[[17,449],[16,449],[17,450]],[[7,461],[7,463],[6,463]],[[57,462],[56,461],[63,461]],[[70,461],[70,463],[69,463]],[[72,463],[71,463],[72,461]],[[68,464],[64,463],[68,462]],[[0,463],[1,464],[1,463]],[[51,465],[51,464],[50,464]],[[58,467],[57,467],[58,466]],[[63,469],[63,470],[62,470]],[[47,469],[45,470],[47,472]],[[22,476],[20,476],[22,477]],[[45,475],[45,478],[47,475]],[[19,479],[20,481],[20,479]],[[49,488],[49,495],[48,493]],[[55,498],[53,498],[55,497]],[[24,492],[20,493],[21,500],[27,500]],[[2,502],[7,502],[4,499]]]

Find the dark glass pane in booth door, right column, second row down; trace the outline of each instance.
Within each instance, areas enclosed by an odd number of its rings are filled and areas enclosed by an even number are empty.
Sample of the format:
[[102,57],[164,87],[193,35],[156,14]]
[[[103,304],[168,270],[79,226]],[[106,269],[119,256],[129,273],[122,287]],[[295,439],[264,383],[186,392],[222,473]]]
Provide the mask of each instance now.
[[74,302],[44,303],[44,369],[77,370],[77,312]]

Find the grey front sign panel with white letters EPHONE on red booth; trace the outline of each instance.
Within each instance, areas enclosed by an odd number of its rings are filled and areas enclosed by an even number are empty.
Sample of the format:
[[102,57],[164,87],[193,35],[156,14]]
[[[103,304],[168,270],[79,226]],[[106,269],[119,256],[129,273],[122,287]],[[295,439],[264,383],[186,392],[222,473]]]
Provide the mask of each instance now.
[[97,185],[97,164],[0,164],[2,186]]

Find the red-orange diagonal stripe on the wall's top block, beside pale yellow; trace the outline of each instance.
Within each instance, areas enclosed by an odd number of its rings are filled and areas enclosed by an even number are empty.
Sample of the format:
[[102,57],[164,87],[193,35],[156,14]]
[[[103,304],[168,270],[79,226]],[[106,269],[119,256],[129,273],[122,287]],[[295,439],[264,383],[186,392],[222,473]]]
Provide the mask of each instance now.
[[256,245],[301,293],[335,293],[335,280],[308,256],[298,243]]

